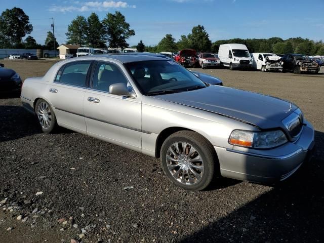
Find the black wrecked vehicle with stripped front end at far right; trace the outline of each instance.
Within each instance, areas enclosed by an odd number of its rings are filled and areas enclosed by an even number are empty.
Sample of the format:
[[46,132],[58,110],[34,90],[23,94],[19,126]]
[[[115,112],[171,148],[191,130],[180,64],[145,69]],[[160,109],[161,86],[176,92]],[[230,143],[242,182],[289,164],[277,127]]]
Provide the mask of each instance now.
[[292,71],[295,74],[301,74],[302,72],[318,73],[319,71],[317,62],[301,54],[286,54],[282,57],[282,61],[284,61],[284,71]]

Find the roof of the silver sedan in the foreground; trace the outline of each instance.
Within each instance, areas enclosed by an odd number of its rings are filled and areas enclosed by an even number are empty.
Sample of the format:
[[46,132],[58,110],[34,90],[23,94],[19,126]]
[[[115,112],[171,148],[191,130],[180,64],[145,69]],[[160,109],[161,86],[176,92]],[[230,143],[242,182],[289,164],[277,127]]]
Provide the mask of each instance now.
[[[118,60],[121,63],[129,63],[129,62],[139,62],[139,61],[155,61],[155,60],[168,60],[164,55],[157,55],[153,53],[112,53],[112,54],[104,54],[104,55],[90,55],[82,58],[90,58],[95,59],[96,57],[107,58]],[[73,58],[74,60],[77,59]]]

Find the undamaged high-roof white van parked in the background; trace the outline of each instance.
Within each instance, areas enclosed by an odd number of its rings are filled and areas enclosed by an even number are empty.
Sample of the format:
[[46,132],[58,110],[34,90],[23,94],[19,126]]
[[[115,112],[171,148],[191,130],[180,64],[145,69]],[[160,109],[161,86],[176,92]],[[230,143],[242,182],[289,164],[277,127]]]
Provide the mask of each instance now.
[[251,68],[252,58],[246,45],[242,44],[224,44],[219,46],[218,58],[221,64],[229,67],[230,70],[235,68]]

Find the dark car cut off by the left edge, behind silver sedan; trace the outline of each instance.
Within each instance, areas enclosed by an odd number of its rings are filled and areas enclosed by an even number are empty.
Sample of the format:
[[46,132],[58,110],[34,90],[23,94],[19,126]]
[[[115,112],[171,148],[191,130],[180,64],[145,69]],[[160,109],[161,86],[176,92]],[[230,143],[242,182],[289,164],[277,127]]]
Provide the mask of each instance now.
[[21,92],[22,81],[17,72],[0,64],[0,93]]

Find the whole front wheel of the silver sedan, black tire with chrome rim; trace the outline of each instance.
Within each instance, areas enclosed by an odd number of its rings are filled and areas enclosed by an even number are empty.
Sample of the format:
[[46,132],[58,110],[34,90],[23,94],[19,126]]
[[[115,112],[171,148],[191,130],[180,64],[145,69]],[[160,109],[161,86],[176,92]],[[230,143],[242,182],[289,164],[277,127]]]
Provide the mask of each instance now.
[[[185,144],[184,152],[182,144]],[[205,189],[214,177],[215,163],[219,168],[213,146],[206,138],[192,131],[179,131],[170,135],[162,144],[160,160],[169,180],[186,190]],[[179,164],[182,168],[177,166]]]

